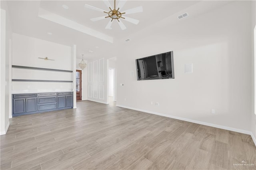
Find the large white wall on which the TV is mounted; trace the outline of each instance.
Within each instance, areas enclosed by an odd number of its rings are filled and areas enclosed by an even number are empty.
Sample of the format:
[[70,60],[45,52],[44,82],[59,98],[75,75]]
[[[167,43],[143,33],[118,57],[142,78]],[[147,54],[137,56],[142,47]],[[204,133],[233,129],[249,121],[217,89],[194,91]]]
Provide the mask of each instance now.
[[[176,25],[162,20],[121,43],[117,105],[250,131],[250,3],[232,2]],[[135,59],[168,51],[175,79],[136,80]],[[194,73],[184,73],[186,63]]]

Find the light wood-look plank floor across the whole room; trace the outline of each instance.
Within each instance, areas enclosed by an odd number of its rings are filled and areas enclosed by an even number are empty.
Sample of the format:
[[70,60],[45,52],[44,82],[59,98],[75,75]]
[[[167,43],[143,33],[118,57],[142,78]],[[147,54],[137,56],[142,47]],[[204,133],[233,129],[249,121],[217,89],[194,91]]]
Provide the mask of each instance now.
[[[10,119],[4,169],[256,169],[249,135],[91,101]],[[244,164],[244,163],[242,163]]]

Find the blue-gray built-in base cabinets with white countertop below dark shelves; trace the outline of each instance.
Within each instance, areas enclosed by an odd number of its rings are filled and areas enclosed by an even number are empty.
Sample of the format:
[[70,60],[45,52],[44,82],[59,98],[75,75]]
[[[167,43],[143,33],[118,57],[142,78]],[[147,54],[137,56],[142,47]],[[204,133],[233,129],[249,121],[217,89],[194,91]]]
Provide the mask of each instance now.
[[73,92],[12,95],[12,116],[73,108]]

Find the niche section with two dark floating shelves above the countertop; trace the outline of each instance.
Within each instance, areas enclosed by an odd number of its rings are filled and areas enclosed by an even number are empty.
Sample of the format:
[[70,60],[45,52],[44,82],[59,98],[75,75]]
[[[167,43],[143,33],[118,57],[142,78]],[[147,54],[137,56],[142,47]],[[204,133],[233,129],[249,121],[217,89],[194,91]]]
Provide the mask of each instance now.
[[73,71],[12,65],[12,91],[70,91]]

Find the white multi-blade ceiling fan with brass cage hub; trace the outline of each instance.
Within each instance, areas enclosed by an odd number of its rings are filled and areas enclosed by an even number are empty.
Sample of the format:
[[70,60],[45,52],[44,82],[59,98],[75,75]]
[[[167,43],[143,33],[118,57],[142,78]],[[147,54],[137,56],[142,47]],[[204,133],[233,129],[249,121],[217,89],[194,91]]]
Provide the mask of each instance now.
[[102,20],[104,18],[110,18],[111,20],[108,22],[108,24],[106,25],[106,29],[112,29],[111,25],[112,25],[112,21],[113,20],[117,20],[118,21],[118,25],[120,26],[120,28],[122,30],[126,29],[126,26],[123,24],[123,22],[120,19],[124,19],[128,22],[131,22],[133,24],[138,24],[140,21],[133,19],[133,18],[129,18],[129,17],[123,17],[123,14],[134,14],[134,13],[138,13],[138,12],[143,12],[142,6],[138,6],[136,8],[132,8],[130,10],[126,10],[123,12],[120,12],[120,10],[122,9],[122,7],[124,6],[124,4],[126,3],[127,0],[119,0],[119,3],[117,5],[117,9],[116,9],[116,0],[114,0],[114,8],[112,8],[112,6],[110,5],[110,3],[108,2],[108,0],[103,0],[104,4],[110,9],[109,12],[106,12],[105,10],[102,10],[100,8],[94,7],[94,6],[90,6],[88,4],[85,4],[84,6],[86,8],[92,9],[92,10],[96,10],[99,12],[104,12],[106,14],[108,14],[108,16],[101,16],[101,17],[97,17],[97,18],[92,18],[91,20],[94,21],[98,21],[98,20]]

